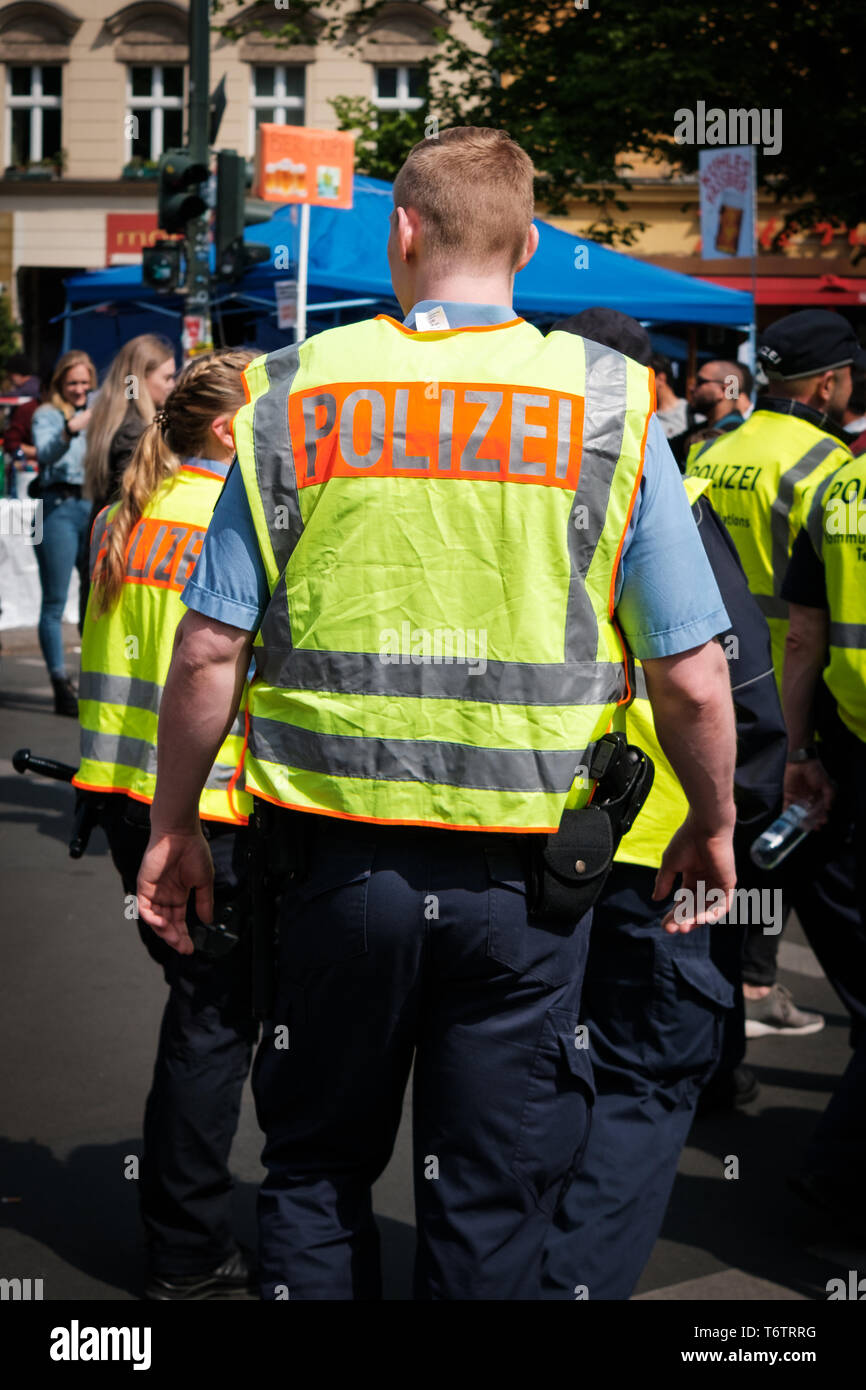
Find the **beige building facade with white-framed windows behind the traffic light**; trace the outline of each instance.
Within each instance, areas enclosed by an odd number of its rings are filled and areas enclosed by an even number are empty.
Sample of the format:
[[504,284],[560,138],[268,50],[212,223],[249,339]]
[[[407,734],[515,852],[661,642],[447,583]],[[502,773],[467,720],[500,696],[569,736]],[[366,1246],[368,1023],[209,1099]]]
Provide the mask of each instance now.
[[[260,121],[334,129],[336,96],[423,104],[435,3],[386,3],[353,42],[314,19],[304,43],[278,47],[257,22],[284,8],[229,4],[211,19],[210,86],[224,79],[227,99],[217,149],[252,158]],[[229,21],[232,39],[217,28]],[[177,0],[0,3],[0,282],[35,352],[53,338],[64,275],[138,259],[156,236],[156,164],[185,143],[188,22]]]

